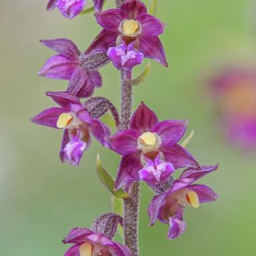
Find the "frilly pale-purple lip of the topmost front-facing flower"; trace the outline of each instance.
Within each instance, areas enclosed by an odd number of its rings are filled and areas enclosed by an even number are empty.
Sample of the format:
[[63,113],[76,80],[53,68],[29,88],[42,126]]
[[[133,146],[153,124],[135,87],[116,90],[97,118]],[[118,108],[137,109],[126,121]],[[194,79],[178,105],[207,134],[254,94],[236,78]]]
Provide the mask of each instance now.
[[140,53],[134,47],[135,42],[126,44],[125,41],[122,44],[110,47],[107,55],[114,66],[119,70],[131,70],[135,65],[143,63],[143,53]]

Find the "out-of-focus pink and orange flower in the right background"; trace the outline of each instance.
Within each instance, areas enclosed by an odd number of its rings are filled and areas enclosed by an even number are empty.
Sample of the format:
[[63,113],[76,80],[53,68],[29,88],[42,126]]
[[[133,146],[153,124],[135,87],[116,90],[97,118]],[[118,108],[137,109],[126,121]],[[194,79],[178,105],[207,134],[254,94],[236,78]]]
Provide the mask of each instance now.
[[256,71],[230,69],[215,77],[212,86],[230,141],[256,148]]

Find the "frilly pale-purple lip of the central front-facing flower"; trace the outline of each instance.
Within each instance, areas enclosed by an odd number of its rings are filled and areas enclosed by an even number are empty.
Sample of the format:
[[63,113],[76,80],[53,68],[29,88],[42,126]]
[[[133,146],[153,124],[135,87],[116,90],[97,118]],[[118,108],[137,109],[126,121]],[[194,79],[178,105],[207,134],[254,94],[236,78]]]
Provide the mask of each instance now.
[[160,154],[156,156],[154,161],[146,158],[146,162],[146,166],[139,170],[139,178],[150,185],[167,183],[170,174],[175,171],[172,164],[160,160]]

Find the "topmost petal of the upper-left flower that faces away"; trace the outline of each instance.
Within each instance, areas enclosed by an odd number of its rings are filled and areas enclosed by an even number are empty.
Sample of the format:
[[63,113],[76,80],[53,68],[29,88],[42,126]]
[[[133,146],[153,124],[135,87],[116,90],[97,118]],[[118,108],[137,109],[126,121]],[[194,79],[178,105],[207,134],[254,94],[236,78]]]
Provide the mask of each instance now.
[[79,57],[80,52],[71,40],[67,38],[58,38],[53,40],[40,40],[40,42],[60,55],[73,59],[73,61],[77,60],[78,62],[77,58]]

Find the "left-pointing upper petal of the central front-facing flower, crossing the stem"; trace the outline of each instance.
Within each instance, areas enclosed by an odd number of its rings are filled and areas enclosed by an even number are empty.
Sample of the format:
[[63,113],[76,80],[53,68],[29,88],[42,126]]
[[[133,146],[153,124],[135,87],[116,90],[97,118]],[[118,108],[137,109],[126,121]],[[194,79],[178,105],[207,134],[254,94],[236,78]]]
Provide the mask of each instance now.
[[122,156],[132,154],[137,152],[137,139],[139,135],[137,130],[119,131],[119,133],[108,137],[109,147]]

